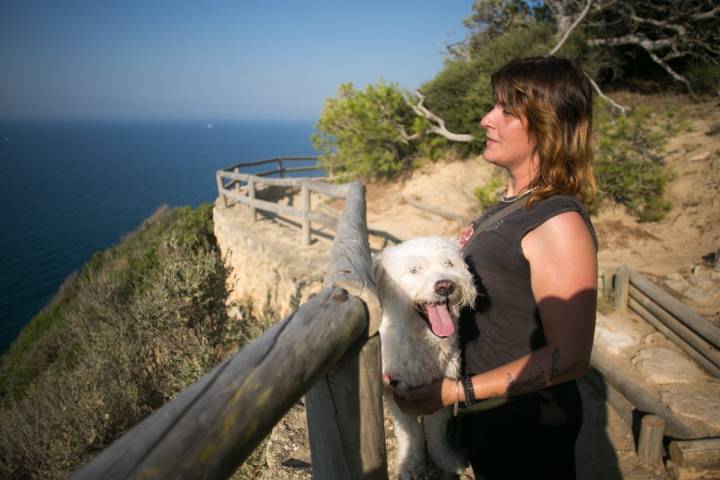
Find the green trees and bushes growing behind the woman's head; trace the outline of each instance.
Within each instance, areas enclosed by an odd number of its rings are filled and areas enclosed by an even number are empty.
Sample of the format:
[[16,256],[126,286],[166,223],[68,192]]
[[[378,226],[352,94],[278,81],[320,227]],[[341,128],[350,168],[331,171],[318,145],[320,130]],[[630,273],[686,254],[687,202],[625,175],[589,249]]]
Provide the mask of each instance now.
[[[448,149],[478,153],[492,72],[512,58],[553,50],[577,59],[605,86],[635,75],[691,94],[720,93],[719,19],[716,0],[476,0],[466,38],[448,46],[442,70],[418,99],[384,82],[364,91],[342,85],[314,142],[326,168],[345,177],[392,177],[419,155]],[[657,158],[656,135],[643,124],[650,114],[614,118],[596,110],[601,199],[627,205],[642,220],[659,219],[668,208],[662,193],[669,174]]]

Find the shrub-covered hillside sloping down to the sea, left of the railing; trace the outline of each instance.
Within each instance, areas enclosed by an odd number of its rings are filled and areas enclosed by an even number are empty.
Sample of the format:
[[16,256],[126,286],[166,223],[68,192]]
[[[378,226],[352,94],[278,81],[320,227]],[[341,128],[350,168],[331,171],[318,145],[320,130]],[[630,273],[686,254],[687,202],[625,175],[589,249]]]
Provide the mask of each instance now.
[[212,208],[164,209],[97,254],[0,372],[0,478],[66,478],[260,333],[226,313]]

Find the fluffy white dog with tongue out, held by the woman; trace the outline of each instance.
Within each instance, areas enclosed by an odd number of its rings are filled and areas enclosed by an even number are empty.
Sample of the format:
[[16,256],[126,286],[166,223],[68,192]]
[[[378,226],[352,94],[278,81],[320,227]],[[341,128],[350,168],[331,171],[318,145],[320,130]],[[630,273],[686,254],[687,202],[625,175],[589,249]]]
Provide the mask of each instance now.
[[[462,306],[474,304],[476,295],[458,244],[440,237],[416,238],[385,249],[375,260],[385,383],[402,394],[438,378],[458,378],[458,314]],[[446,437],[452,407],[420,423],[400,411],[390,389],[386,394],[398,440],[400,478],[422,476],[425,439],[439,468],[460,473],[464,462]]]

